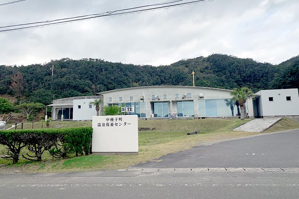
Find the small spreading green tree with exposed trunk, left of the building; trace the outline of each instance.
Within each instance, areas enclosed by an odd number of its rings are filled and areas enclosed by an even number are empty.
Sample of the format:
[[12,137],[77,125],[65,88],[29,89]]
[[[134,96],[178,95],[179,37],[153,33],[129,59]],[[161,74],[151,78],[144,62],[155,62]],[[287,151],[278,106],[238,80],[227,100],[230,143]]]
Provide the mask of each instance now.
[[45,108],[45,105],[43,105],[42,103],[30,102],[30,103],[22,103],[20,105],[16,105],[16,109],[19,112],[26,114],[28,121],[33,120],[33,116],[39,113],[40,111],[42,111],[43,108]]

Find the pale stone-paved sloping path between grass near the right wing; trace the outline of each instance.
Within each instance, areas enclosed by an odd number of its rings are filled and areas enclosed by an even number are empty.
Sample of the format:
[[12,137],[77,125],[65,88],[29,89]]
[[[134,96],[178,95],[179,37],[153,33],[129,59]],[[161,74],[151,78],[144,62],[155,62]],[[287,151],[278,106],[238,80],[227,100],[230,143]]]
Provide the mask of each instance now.
[[271,125],[276,123],[281,118],[260,118],[251,120],[237,128],[234,131],[246,131],[246,132],[261,132]]

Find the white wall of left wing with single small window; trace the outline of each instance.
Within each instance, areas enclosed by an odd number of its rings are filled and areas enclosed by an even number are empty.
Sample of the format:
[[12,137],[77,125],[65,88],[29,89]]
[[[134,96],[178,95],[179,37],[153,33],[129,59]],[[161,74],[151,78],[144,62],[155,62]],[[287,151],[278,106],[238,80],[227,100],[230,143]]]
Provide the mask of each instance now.
[[[73,120],[92,120],[92,116],[97,115],[95,107],[89,108],[89,102],[94,101],[94,99],[81,99],[73,101]],[[81,108],[78,109],[78,105]],[[101,110],[100,110],[101,111]]]

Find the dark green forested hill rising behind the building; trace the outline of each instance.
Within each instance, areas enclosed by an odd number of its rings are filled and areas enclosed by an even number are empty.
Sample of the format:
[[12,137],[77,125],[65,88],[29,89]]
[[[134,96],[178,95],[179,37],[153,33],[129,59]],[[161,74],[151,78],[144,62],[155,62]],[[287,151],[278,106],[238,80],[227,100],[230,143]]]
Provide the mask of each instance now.
[[[52,79],[51,67],[54,64]],[[299,56],[279,65],[213,54],[167,66],[133,65],[101,59],[60,59],[44,65],[0,66],[0,94],[50,104],[53,98],[93,95],[100,91],[147,85],[181,85],[194,70],[215,88],[299,88]],[[190,77],[184,85],[192,85]],[[196,86],[207,86],[196,77]]]

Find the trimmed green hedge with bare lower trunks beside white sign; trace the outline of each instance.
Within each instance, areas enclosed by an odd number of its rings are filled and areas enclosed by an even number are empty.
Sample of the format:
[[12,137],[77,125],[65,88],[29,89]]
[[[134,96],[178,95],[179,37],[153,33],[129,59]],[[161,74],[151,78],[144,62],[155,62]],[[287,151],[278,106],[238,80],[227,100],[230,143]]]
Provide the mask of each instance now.
[[0,144],[7,147],[3,158],[15,164],[24,147],[29,152],[22,157],[27,160],[41,161],[46,150],[56,158],[66,158],[67,154],[89,154],[91,135],[91,127],[4,130],[0,131]]

